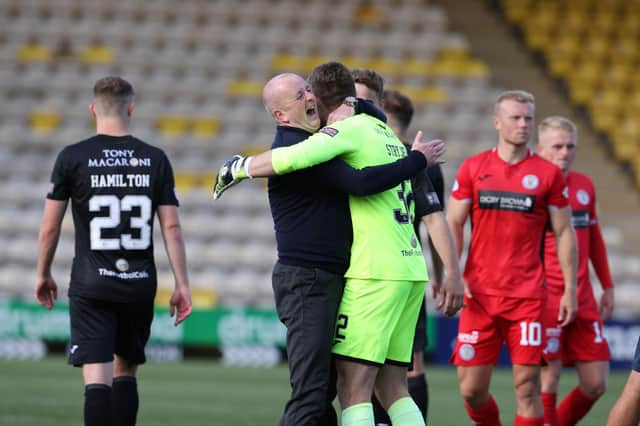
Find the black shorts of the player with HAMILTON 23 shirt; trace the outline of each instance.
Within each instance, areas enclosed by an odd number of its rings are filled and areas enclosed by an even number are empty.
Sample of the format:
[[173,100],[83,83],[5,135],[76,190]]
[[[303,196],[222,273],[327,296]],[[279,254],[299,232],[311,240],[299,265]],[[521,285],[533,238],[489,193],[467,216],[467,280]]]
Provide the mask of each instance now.
[[127,304],[69,297],[71,341],[69,364],[113,361],[113,354],[131,364],[144,364],[151,333],[153,303]]

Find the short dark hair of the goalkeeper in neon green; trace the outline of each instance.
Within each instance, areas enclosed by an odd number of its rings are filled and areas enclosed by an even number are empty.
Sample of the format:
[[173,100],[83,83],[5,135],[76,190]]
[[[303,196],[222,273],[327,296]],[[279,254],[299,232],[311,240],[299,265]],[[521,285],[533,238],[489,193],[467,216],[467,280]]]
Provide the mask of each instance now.
[[311,71],[308,80],[313,93],[329,110],[340,106],[346,97],[356,95],[351,72],[340,62],[318,65]]

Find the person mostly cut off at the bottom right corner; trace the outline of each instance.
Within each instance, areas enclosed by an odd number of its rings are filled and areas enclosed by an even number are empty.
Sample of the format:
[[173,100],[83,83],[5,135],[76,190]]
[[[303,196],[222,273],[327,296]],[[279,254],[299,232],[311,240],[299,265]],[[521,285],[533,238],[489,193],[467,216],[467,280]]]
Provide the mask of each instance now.
[[616,401],[607,426],[638,426],[640,423],[640,338],[631,364],[631,372],[620,397]]

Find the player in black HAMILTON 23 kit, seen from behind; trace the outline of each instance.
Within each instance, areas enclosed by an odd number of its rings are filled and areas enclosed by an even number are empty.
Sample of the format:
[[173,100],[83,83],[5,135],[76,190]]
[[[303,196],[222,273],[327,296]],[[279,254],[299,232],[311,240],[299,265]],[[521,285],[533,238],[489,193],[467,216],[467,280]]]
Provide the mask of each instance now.
[[51,308],[51,276],[61,223],[71,200],[75,257],[69,284],[69,363],[82,366],[84,423],[134,425],[137,366],[153,319],[158,214],[175,276],[170,301],[178,325],[191,313],[186,255],[173,171],[158,148],[129,134],[133,88],[119,77],[94,86],[96,135],[65,147],[56,160],[40,228],[35,296]]

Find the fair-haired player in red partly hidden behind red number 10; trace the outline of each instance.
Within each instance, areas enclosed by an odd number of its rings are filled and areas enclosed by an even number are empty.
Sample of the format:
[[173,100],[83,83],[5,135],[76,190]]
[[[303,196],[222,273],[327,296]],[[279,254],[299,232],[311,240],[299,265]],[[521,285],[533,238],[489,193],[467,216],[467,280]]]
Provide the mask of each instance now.
[[[564,287],[556,256],[556,242],[550,232],[545,237],[545,275],[548,299],[543,324],[547,346],[547,365],[542,367],[542,403],[545,426],[575,425],[591,409],[607,387],[609,345],[602,335],[602,322],[613,311],[613,280],[607,262],[607,249],[598,225],[596,194],[587,176],[571,171],[576,157],[578,131],[564,117],[547,117],[538,125],[538,153],[562,170],[569,187],[569,205],[578,241],[578,314],[566,327],[558,325],[557,311]],[[589,280],[589,260],[603,288],[600,306],[593,296]],[[556,396],[560,371],[575,365],[578,386],[560,403]]]

